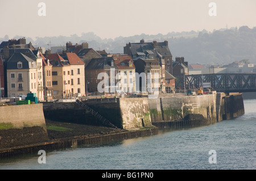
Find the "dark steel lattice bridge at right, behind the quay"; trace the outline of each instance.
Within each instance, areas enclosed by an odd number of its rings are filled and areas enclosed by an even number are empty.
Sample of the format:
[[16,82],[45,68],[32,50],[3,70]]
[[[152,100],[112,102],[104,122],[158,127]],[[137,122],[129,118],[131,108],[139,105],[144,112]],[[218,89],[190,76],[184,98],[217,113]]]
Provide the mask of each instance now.
[[218,92],[256,92],[255,78],[256,74],[230,73],[184,75],[183,80],[187,89],[209,84]]

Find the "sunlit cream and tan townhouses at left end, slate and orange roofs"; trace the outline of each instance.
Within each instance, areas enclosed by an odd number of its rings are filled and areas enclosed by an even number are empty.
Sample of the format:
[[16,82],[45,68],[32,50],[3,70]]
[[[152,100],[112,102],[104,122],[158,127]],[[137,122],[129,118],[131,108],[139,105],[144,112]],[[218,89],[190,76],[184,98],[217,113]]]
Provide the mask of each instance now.
[[85,94],[85,66],[75,53],[65,54],[64,59],[59,54],[45,57],[29,48],[3,48],[0,57],[4,65],[1,87],[7,97],[32,92],[43,101]]

